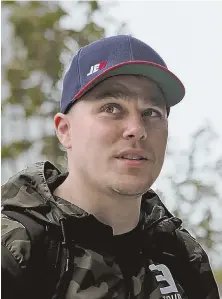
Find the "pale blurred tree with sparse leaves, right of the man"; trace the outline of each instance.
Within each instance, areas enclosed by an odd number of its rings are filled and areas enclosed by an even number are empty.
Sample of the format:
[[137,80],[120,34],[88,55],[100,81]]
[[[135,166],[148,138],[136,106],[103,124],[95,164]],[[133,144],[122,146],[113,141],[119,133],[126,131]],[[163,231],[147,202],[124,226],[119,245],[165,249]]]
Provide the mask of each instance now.
[[[178,151],[169,142],[166,173],[157,192],[167,203],[172,198],[172,211],[181,218],[189,232],[214,258],[214,266],[222,267],[221,204],[222,156],[215,155],[218,136],[203,125],[193,133],[188,149]],[[171,202],[172,204],[172,202]],[[219,263],[218,263],[219,261]]]

